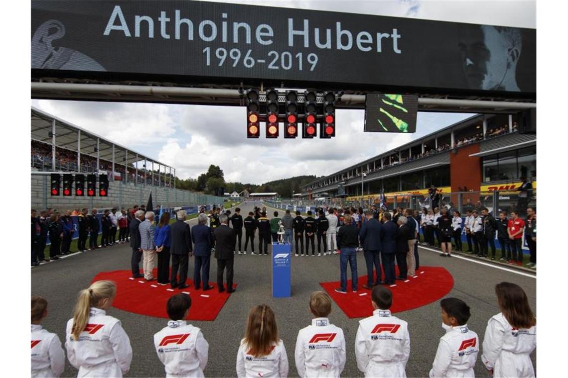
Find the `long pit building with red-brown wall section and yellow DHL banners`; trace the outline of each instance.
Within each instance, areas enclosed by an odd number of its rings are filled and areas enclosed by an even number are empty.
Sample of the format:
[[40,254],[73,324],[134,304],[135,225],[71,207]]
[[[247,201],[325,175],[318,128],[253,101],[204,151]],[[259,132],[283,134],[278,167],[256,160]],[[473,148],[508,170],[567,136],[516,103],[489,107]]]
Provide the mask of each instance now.
[[[377,202],[383,193],[387,201],[393,203],[392,198],[398,197],[398,203],[404,205],[411,202],[405,196],[423,197],[427,188],[435,185],[448,194],[445,198],[450,202],[449,193],[481,194],[518,188],[521,176],[527,176],[536,188],[536,135],[520,134],[518,121],[517,114],[476,114],[320,177],[302,186],[302,198],[325,196],[337,202]],[[514,202],[514,192],[508,194],[499,200]],[[454,198],[454,205],[462,199],[463,203],[483,202],[483,198],[460,196]]]

